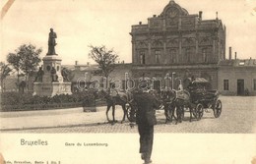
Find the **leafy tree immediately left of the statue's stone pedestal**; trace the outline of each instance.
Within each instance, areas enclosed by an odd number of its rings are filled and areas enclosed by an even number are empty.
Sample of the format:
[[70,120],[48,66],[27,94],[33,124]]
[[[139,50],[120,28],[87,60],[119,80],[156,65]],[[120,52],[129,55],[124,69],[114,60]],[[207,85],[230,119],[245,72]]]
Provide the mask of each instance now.
[[18,85],[20,84],[19,76],[21,72],[25,74],[26,82],[29,83],[28,78],[30,73],[36,70],[41,61],[39,58],[41,51],[41,48],[36,49],[32,44],[23,44],[16,49],[16,53],[8,54],[7,61],[13,66],[18,74]]

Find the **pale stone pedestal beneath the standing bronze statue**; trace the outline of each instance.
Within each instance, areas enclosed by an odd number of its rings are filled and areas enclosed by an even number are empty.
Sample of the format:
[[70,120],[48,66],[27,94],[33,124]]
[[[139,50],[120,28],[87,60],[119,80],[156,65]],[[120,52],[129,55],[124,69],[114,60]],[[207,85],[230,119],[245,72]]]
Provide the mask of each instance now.
[[[72,94],[71,82],[63,82],[61,76],[61,58],[57,55],[46,55],[43,59],[42,82],[33,83],[33,94],[40,96],[54,96],[55,94]],[[56,74],[51,73],[52,68]]]

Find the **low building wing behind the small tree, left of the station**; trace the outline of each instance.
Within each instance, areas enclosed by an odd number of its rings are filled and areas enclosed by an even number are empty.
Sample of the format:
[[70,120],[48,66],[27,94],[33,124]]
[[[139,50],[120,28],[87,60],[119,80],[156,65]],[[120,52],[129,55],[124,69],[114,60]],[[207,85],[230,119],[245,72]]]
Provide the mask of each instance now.
[[[90,87],[106,88],[106,80],[102,78],[100,69],[96,64],[79,65],[64,65],[62,67],[71,70],[72,75],[72,91],[79,91],[88,89]],[[110,73],[108,84],[118,90],[125,90],[127,88],[126,79],[131,76],[132,64],[117,63],[115,69]]]

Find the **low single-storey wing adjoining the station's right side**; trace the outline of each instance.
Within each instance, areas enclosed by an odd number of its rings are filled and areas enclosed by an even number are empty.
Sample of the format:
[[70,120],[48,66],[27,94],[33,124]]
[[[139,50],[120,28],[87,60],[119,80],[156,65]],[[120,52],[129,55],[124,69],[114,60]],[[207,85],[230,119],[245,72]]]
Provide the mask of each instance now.
[[219,64],[218,89],[227,95],[256,95],[256,59],[224,60]]

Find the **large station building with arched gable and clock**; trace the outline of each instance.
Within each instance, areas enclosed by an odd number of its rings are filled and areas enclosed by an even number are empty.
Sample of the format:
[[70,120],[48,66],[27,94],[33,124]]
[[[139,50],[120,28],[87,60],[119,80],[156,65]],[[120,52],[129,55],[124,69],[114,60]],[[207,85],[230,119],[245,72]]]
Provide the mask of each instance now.
[[203,12],[189,14],[171,0],[148,24],[132,26],[130,34],[133,77],[164,83],[170,76],[177,85],[193,75],[218,87],[218,64],[225,59],[225,27],[218,17],[203,20]]

